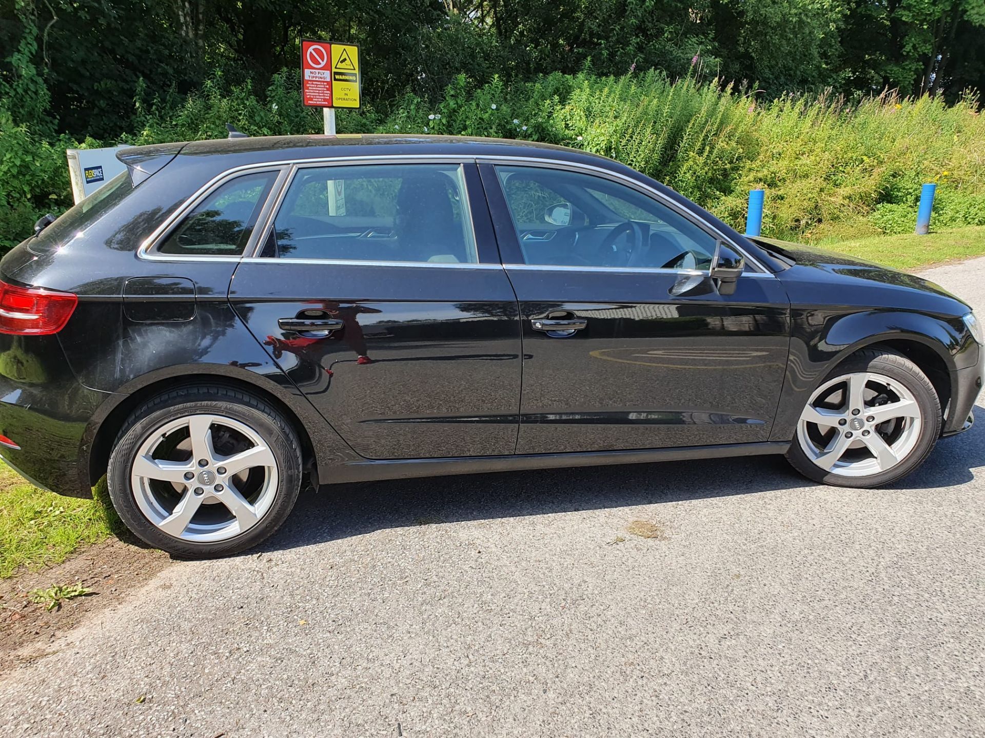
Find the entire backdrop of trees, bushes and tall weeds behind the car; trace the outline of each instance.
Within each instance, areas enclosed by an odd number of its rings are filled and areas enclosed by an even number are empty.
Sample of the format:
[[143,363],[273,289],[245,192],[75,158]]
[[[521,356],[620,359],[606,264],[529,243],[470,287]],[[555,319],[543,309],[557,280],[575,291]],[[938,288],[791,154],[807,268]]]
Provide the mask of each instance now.
[[[0,0],[0,248],[70,204],[64,150],[321,130],[301,36],[362,45],[343,132],[621,159],[734,224],[817,238],[985,221],[985,0]],[[898,89],[898,92],[886,92]]]

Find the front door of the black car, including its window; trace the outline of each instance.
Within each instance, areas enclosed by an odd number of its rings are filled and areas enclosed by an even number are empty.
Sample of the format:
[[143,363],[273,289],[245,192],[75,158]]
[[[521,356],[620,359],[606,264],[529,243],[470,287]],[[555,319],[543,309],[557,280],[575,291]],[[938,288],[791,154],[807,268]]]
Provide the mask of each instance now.
[[767,441],[786,295],[708,277],[717,237],[615,176],[482,164],[520,301],[519,454]]

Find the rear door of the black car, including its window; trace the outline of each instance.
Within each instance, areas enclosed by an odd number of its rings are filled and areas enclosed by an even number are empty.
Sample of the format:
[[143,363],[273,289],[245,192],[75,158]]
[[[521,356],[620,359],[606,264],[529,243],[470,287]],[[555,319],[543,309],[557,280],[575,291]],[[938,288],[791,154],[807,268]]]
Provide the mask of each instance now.
[[233,309],[357,453],[513,453],[518,305],[474,163],[301,162],[266,228]]

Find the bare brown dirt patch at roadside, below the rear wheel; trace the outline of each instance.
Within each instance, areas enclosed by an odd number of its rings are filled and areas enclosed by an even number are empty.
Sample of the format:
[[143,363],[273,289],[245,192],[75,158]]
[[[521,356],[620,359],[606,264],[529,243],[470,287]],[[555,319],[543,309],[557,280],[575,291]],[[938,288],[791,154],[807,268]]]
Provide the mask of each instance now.
[[[119,603],[170,563],[162,551],[109,538],[57,566],[0,581],[0,674],[53,653],[49,645],[58,636]],[[93,593],[64,600],[51,611],[32,602],[29,595],[52,584],[76,583]]]

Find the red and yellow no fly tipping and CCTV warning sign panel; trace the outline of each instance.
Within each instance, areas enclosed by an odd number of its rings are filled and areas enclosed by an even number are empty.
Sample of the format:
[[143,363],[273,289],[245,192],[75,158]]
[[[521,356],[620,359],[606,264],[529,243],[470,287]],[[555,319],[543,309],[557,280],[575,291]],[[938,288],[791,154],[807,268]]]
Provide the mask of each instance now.
[[360,106],[360,47],[301,41],[302,96],[313,107]]

